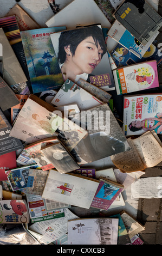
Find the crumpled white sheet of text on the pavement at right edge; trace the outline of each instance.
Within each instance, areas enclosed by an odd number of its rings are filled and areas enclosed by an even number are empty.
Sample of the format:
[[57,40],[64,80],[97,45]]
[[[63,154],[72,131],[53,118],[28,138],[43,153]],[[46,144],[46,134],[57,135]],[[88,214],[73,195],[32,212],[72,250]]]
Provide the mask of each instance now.
[[138,179],[131,185],[133,198],[162,198],[162,177]]

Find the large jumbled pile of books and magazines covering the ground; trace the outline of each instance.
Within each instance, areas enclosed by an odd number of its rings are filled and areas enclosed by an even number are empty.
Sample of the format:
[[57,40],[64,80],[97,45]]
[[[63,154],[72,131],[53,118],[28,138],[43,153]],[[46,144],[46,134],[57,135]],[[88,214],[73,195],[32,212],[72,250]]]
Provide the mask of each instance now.
[[142,244],[145,227],[121,210],[134,179],[119,174],[162,161],[162,18],[146,1],[48,2],[47,27],[18,4],[0,18],[1,223],[44,244]]

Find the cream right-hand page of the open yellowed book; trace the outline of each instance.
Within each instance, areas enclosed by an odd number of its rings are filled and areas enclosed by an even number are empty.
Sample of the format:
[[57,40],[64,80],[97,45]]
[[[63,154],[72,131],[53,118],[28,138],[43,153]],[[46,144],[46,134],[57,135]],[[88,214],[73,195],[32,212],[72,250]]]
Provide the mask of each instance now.
[[161,162],[162,147],[150,131],[133,139],[132,142],[146,167],[153,167]]

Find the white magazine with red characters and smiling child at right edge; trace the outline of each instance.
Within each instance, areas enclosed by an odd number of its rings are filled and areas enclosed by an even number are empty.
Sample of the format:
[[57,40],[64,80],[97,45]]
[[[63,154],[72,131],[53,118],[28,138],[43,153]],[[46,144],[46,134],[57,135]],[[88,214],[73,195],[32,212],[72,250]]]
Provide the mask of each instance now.
[[154,130],[162,130],[162,94],[142,94],[124,96],[125,135],[141,135]]

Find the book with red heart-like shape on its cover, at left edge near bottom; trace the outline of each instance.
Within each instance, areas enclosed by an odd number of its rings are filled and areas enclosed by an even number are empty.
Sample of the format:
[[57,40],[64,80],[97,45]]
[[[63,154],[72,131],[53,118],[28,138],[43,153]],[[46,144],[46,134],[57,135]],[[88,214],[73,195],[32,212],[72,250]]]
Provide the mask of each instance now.
[[1,223],[29,223],[30,217],[25,200],[1,200]]

